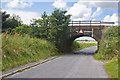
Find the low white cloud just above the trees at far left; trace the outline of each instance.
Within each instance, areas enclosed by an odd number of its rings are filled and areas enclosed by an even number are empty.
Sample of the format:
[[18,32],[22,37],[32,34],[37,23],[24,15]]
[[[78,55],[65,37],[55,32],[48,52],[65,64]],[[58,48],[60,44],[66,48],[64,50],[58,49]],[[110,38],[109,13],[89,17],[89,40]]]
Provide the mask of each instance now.
[[16,9],[5,9],[3,11],[6,11],[8,14],[11,16],[13,14],[19,15],[23,23],[25,24],[30,24],[30,20],[33,18],[35,19],[40,19],[41,15],[37,12],[32,12],[32,11],[22,11],[22,10],[16,10]]

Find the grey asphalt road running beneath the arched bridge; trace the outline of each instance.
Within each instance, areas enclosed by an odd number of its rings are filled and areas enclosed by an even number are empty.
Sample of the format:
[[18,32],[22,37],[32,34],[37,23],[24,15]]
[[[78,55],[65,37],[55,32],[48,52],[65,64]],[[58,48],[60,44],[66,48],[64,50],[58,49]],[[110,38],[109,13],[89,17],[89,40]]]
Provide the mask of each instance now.
[[[84,48],[77,53],[93,54],[97,46]],[[104,64],[93,55],[69,54],[40,64],[9,78],[108,78]]]

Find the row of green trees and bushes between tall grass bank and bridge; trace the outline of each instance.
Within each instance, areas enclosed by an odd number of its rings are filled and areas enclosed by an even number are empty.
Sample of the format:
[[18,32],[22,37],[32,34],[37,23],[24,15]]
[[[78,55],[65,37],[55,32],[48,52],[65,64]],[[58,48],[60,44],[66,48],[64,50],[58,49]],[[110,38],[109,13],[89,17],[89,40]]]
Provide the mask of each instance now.
[[[9,29],[12,34],[15,32],[22,35],[29,35],[34,38],[46,39],[50,42],[53,42],[57,47],[59,52],[66,52],[68,48],[68,40],[70,37],[70,27],[68,26],[70,22],[70,15],[65,15],[66,11],[60,9],[55,9],[51,15],[47,15],[44,12],[41,16],[41,19],[33,19],[32,23],[28,25],[14,25],[13,23],[18,24],[19,19],[16,16],[6,20],[7,29]],[[17,18],[17,19],[16,19]],[[17,20],[17,22],[15,22]],[[20,24],[20,23],[19,23]],[[13,27],[11,27],[14,25]],[[8,27],[9,26],[9,27]],[[11,28],[13,28],[11,30]]]

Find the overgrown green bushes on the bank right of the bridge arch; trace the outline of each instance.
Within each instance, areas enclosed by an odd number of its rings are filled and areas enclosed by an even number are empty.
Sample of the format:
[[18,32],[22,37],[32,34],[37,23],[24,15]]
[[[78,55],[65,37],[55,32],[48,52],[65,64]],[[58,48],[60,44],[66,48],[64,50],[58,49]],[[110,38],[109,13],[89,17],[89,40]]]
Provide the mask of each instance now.
[[120,45],[118,45],[119,36],[117,26],[106,30],[98,50],[98,54],[103,56],[98,57],[98,59],[111,60],[113,57],[118,57],[120,47]]

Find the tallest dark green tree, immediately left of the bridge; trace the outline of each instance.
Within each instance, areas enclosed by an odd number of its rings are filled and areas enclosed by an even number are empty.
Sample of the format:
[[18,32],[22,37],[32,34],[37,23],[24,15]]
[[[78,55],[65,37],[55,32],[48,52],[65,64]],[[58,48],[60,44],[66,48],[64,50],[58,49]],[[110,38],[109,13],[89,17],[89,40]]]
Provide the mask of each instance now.
[[60,51],[64,51],[67,46],[67,40],[70,37],[70,28],[68,26],[70,22],[70,15],[65,15],[67,11],[61,11],[55,9],[52,15],[51,23],[56,27],[57,32],[55,35],[55,44]]

